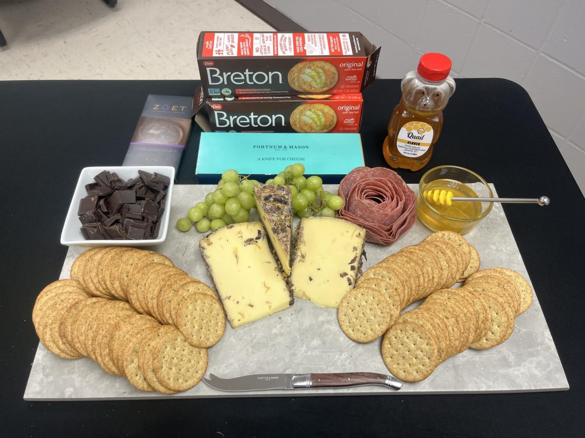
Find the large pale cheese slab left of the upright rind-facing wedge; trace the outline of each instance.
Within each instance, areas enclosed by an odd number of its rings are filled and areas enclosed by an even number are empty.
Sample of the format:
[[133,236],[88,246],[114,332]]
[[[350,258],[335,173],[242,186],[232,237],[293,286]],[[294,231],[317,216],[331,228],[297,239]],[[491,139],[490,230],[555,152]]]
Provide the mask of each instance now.
[[233,328],[294,302],[259,222],[219,228],[199,248]]

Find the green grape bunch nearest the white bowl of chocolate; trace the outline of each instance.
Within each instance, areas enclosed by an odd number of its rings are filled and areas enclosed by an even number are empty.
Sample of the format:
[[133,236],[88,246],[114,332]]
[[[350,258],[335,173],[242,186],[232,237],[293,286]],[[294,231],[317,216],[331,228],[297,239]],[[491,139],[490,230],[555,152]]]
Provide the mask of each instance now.
[[189,231],[193,224],[199,232],[218,230],[225,225],[247,222],[256,206],[254,185],[260,181],[247,179],[230,169],[222,173],[218,187],[205,195],[204,202],[189,208],[187,217],[177,221],[180,231]]

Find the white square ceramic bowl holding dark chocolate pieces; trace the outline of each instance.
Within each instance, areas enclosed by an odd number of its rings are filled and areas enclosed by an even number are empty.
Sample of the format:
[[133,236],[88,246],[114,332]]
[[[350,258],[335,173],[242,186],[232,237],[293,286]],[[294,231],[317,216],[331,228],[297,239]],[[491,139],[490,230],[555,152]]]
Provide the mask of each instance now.
[[[166,208],[163,217],[161,217],[159,237],[156,239],[144,240],[86,240],[81,233],[81,222],[77,215],[79,201],[87,196],[85,185],[94,182],[94,176],[102,171],[116,172],[125,180],[136,178],[138,171],[149,173],[157,172],[161,175],[168,176],[171,180],[167,188],[167,194],[164,197]],[[77,187],[73,193],[63,231],[61,232],[61,244],[67,246],[152,246],[159,245],[167,238],[168,218],[171,211],[171,199],[173,196],[173,185],[175,180],[175,168],[173,166],[118,166],[118,167],[86,167],[81,171],[77,180]]]

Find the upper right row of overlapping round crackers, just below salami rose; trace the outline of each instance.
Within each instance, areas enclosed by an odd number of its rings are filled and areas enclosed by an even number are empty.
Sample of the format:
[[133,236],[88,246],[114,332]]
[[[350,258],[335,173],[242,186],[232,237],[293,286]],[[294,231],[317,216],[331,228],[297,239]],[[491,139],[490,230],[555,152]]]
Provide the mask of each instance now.
[[366,270],[339,303],[339,325],[356,342],[376,340],[410,304],[464,281],[479,266],[479,254],[465,238],[435,232]]

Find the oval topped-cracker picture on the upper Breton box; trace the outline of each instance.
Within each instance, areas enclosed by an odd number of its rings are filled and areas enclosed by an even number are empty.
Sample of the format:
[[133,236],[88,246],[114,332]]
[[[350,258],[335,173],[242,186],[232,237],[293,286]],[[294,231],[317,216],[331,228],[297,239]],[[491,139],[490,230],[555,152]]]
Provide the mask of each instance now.
[[288,72],[288,84],[297,91],[322,93],[337,84],[339,73],[331,62],[299,62]]

